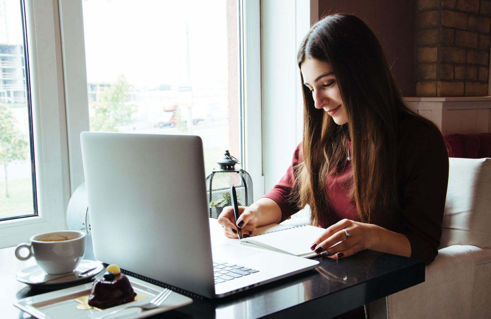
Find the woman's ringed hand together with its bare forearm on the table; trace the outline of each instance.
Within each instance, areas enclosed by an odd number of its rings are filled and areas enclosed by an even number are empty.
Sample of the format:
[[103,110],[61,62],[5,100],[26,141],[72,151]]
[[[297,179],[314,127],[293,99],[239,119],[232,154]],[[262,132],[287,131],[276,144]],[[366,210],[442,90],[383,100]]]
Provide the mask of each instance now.
[[328,227],[310,249],[333,259],[348,257],[365,249],[406,257],[411,255],[411,246],[406,236],[350,219],[340,220]]

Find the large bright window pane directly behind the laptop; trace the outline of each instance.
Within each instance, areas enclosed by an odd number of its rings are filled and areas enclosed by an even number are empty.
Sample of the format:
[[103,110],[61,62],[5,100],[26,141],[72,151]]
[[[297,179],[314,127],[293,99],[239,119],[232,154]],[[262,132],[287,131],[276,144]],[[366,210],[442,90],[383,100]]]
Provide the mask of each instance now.
[[237,0],[82,6],[91,131],[199,135],[206,174],[242,158]]

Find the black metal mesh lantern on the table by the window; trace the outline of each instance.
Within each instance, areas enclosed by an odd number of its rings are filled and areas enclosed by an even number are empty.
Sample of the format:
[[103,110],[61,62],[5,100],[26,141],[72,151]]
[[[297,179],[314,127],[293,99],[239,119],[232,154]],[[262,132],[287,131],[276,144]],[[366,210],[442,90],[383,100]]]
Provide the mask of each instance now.
[[230,155],[228,151],[217,160],[218,169],[206,178],[206,194],[208,196],[209,216],[218,218],[223,207],[231,206],[230,186],[235,186],[239,206],[252,204],[252,179],[242,168],[235,169],[239,160]]

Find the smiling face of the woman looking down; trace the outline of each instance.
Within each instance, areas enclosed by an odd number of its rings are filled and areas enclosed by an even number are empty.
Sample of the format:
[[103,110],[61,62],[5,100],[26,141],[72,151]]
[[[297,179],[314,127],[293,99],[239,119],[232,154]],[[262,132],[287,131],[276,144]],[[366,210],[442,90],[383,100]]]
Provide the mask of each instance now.
[[324,108],[337,125],[346,124],[348,115],[331,64],[307,58],[300,64],[300,70],[303,84],[312,93],[315,108]]

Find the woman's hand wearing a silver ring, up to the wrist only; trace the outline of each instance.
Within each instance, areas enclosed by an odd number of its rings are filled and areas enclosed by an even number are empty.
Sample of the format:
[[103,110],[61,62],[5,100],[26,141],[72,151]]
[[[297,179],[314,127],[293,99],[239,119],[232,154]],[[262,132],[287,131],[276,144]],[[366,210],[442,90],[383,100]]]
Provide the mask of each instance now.
[[343,219],[328,227],[310,249],[333,259],[348,257],[369,249],[377,241],[378,226]]

